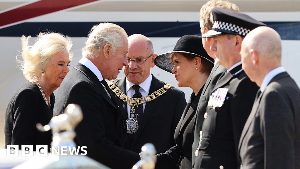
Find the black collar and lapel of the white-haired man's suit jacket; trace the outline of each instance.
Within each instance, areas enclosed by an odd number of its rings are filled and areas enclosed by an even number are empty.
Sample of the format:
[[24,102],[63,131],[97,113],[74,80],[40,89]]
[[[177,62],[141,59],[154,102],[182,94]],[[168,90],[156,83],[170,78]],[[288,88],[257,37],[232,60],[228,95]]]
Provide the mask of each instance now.
[[93,84],[95,84],[96,88],[98,89],[98,91],[102,95],[102,97],[104,97],[104,99],[107,100],[108,103],[110,103],[113,107],[116,108],[115,104],[112,102],[110,97],[107,95],[105,88],[103,87],[102,83],[99,81],[97,76],[94,74],[94,72],[92,72],[90,69],[88,69],[86,66],[82,65],[81,63],[77,63],[74,66],[74,69],[82,72]]

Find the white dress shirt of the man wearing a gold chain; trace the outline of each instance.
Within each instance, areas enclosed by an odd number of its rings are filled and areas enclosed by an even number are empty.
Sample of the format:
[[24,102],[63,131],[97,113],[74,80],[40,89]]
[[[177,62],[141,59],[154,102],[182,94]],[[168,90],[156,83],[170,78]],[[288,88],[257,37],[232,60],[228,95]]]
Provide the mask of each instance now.
[[[140,86],[140,93],[142,94],[142,97],[145,97],[145,96],[149,95],[149,90],[150,90],[151,82],[152,82],[152,75],[151,75],[151,72],[150,72],[148,78],[146,78],[146,80],[143,81],[143,83],[139,84],[139,86]],[[128,97],[132,97],[135,94],[135,91],[132,88],[133,85],[134,84],[131,83],[130,81],[128,81],[128,79],[126,78],[126,95]],[[143,111],[145,110],[145,106],[146,106],[146,103],[143,104]],[[130,109],[131,109],[131,106],[129,106],[127,104],[128,118],[130,116]]]

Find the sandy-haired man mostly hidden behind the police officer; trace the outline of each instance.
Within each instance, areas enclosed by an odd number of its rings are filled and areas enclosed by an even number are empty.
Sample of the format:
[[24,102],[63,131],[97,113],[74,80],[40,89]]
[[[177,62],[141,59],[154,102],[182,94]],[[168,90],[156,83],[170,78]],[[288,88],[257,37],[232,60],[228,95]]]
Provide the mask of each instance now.
[[[206,2],[200,10],[200,28],[202,35],[207,33],[209,30],[212,29],[213,26],[213,19],[211,10],[214,7],[227,9],[230,11],[236,11],[239,12],[238,6],[235,4],[229,2],[229,1],[222,1],[222,0],[211,0]],[[210,46],[212,42],[214,41],[213,38],[202,38],[202,45],[207,54],[214,58],[215,55],[214,51],[210,50]],[[204,121],[204,114],[206,110],[206,106],[209,100],[209,96],[212,93],[212,89],[214,88],[215,84],[217,83],[217,80],[221,76],[221,74],[226,70],[225,67],[215,62],[214,68],[211,70],[211,74],[209,75],[203,91],[201,93],[201,98],[198,103],[197,111],[196,111],[196,123],[195,123],[195,132],[194,132],[194,142],[193,142],[193,153],[192,153],[192,166],[195,168],[199,168],[200,164],[200,158],[199,156],[195,155],[195,152],[197,150],[197,147],[199,145],[199,139],[200,139],[200,131],[202,129],[202,123]]]

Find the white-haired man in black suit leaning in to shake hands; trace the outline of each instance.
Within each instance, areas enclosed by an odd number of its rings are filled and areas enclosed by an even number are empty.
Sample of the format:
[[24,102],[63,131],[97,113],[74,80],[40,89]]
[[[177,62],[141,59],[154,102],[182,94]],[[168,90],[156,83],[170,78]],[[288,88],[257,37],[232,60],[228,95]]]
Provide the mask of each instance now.
[[71,103],[78,104],[83,120],[75,128],[77,146],[87,146],[87,155],[110,168],[131,168],[140,156],[122,148],[126,139],[124,117],[104,79],[117,78],[128,66],[127,33],[113,23],[95,25],[82,59],[62,82],[53,115]]

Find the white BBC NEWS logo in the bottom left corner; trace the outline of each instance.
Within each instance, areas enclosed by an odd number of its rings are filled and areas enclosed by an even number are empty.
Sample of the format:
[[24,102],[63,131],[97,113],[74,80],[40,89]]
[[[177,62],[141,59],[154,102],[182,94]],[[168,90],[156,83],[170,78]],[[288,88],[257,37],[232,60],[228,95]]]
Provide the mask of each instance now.
[[[47,145],[36,145],[36,157],[47,157],[48,156],[48,146]],[[88,152],[86,146],[52,146],[51,154],[52,155],[86,155]],[[79,150],[81,152],[79,153]],[[19,154],[19,145],[7,145],[7,157],[33,157],[33,145],[21,145],[21,154]]]

